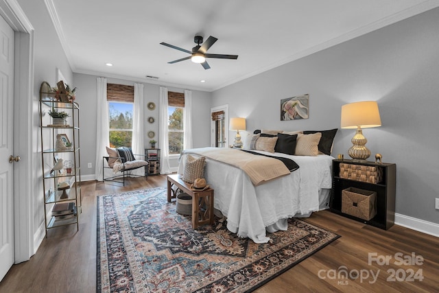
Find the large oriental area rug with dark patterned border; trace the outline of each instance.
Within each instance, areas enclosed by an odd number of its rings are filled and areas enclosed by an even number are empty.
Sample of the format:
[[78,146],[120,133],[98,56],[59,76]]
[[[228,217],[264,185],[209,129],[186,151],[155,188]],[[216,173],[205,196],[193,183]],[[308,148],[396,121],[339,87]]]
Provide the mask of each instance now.
[[193,230],[163,187],[98,196],[97,292],[251,292],[339,237],[297,219],[268,236]]

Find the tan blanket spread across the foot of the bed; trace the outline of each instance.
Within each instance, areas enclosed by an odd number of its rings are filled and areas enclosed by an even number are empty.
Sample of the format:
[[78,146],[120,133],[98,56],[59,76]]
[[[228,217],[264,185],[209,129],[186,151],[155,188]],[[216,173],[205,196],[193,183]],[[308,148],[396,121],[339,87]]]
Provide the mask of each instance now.
[[265,181],[290,174],[289,169],[278,159],[248,154],[233,148],[194,148],[184,150],[182,154],[198,154],[215,161],[238,167],[246,172],[255,186]]

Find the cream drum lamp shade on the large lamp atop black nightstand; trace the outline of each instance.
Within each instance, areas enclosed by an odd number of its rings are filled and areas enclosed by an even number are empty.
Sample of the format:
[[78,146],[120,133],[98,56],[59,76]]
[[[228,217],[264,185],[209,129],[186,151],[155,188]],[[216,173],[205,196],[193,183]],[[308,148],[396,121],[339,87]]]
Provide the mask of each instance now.
[[342,106],[341,128],[372,128],[381,126],[375,101],[355,102]]

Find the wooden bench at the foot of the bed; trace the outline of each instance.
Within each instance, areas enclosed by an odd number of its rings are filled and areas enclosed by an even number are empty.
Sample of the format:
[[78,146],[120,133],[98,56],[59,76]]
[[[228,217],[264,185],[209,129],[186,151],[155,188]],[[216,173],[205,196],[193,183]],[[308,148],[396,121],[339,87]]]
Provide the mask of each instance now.
[[202,224],[213,224],[213,189],[210,187],[205,190],[193,190],[191,185],[182,180],[180,174],[167,176],[167,201],[177,198],[176,190],[172,186],[176,185],[186,194],[192,197],[192,228],[196,229]]

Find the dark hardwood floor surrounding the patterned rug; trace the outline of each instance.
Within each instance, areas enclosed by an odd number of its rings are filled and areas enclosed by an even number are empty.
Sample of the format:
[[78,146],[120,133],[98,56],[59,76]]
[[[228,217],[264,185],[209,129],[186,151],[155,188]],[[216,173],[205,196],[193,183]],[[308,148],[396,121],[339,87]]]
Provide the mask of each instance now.
[[[0,292],[95,292],[96,197],[165,186],[166,176],[132,178],[126,187],[82,183],[80,230],[71,225],[49,231],[29,261],[12,266]],[[383,231],[329,211],[306,220],[342,237],[255,292],[439,292],[437,237],[401,226]],[[385,257],[391,259],[380,263]],[[343,270],[351,277],[342,279]]]

